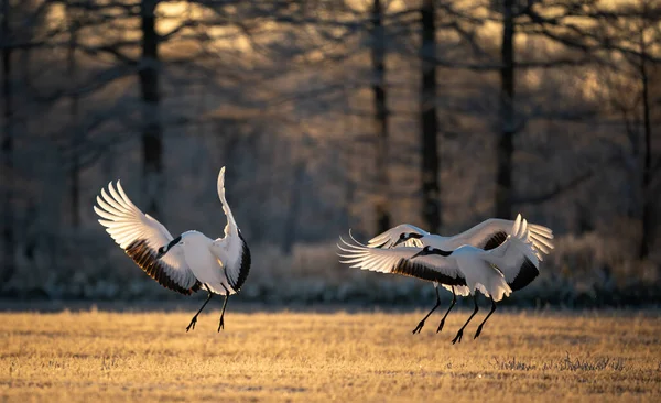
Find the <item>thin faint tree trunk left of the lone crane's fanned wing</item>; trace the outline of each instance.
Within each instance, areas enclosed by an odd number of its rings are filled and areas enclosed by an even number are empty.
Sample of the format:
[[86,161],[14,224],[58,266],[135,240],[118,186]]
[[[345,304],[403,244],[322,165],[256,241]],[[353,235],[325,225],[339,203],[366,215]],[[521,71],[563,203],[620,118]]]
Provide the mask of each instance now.
[[[76,46],[78,42],[78,20],[75,15],[75,11],[73,8],[67,9],[67,20],[68,20],[68,29],[69,29],[69,43],[67,48],[67,76],[69,80],[69,85],[72,87],[75,86],[76,83]],[[79,184],[79,161],[78,161],[78,150],[80,149],[80,128],[78,127],[78,96],[75,91],[72,92],[69,97],[69,119],[72,122],[73,133],[72,133],[72,170],[71,170],[71,215],[72,215],[72,227],[78,228],[80,224],[79,217],[79,194],[80,194],[80,184]]]

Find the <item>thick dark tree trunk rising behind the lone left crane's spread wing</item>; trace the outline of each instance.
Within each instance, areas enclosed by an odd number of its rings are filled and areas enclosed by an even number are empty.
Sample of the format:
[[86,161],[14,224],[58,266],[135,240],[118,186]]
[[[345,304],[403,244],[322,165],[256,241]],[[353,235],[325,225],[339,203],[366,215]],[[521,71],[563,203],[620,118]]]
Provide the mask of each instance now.
[[158,215],[158,193],[162,172],[162,128],[159,94],[159,35],[155,30],[155,9],[159,0],[142,0],[142,58],[140,88],[143,100],[142,175],[147,192],[145,205],[151,215]]

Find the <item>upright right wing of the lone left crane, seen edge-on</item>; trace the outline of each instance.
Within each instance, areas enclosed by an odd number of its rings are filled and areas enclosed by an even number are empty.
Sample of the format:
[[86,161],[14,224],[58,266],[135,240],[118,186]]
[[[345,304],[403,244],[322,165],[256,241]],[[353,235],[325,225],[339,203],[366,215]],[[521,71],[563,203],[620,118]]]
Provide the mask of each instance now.
[[223,204],[223,211],[227,217],[225,237],[218,238],[210,247],[212,253],[223,263],[227,281],[235,292],[239,291],[250,272],[250,249],[234,219],[229,204],[225,198],[225,166],[218,174],[218,197]]

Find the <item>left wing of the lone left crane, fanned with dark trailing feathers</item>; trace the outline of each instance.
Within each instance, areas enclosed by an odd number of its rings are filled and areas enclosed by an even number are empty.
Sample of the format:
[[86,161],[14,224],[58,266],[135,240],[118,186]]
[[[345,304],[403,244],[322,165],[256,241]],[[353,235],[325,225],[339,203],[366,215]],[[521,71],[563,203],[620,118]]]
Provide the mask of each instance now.
[[156,259],[159,248],[173,240],[167,229],[136,207],[119,181],[117,189],[110,182],[108,190],[110,194],[101,189],[101,195],[97,196],[99,207],[94,206],[94,210],[104,218],[99,222],[110,237],[140,269],[165,288],[185,295],[196,292],[199,283],[186,264],[180,247],[171,248],[162,259]]

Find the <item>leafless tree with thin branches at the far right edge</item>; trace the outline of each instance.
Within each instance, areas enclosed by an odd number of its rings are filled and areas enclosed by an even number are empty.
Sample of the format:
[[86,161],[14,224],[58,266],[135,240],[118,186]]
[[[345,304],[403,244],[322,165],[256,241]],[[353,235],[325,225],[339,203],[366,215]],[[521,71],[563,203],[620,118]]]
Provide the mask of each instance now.
[[[608,12],[595,13],[602,42],[608,45],[604,65],[610,76],[605,88],[610,102],[621,115],[631,144],[633,164],[640,181],[639,219],[641,236],[638,255],[646,259],[654,240],[654,171],[652,116],[658,105],[653,92],[659,90],[661,69],[661,6],[650,0],[624,4]],[[661,161],[657,159],[657,161]],[[631,164],[625,164],[625,166]]]

